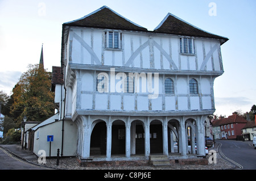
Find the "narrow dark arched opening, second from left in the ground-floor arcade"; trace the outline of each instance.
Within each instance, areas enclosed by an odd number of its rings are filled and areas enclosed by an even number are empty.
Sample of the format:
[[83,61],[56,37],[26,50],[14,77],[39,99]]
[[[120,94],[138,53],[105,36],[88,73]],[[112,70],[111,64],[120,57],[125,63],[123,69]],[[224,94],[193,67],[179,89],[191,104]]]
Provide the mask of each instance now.
[[125,154],[125,122],[115,120],[112,123],[111,154]]

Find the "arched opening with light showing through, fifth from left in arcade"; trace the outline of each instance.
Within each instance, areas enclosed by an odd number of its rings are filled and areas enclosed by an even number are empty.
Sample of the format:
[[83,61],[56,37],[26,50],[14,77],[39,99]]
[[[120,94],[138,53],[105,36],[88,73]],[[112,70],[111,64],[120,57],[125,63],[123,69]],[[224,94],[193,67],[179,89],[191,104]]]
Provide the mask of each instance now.
[[170,154],[180,153],[179,121],[172,119],[168,121],[168,152]]

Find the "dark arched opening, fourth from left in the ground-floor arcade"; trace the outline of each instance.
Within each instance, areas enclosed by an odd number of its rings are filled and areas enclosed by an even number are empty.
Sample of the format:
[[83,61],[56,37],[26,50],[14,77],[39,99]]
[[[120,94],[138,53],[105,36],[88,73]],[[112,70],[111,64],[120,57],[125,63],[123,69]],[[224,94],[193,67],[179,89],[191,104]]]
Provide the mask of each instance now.
[[163,154],[163,127],[159,120],[150,123],[150,154]]

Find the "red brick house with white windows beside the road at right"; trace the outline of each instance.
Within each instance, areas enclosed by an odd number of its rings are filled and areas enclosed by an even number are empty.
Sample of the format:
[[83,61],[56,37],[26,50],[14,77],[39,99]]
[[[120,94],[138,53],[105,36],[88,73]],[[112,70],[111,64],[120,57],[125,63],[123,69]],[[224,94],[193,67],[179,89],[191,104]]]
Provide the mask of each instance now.
[[220,127],[220,139],[228,140],[242,140],[241,129],[245,127],[247,120],[243,117],[237,115],[237,112],[233,112],[232,116],[228,118],[223,118],[220,120],[213,121],[213,128]]

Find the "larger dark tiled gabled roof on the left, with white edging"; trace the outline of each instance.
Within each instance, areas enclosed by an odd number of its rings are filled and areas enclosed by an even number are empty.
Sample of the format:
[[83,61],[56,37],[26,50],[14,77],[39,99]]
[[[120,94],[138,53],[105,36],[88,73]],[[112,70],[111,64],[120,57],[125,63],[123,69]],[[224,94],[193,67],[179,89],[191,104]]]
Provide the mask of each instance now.
[[64,23],[65,26],[108,28],[117,30],[147,31],[146,28],[131,22],[107,6],[71,22]]

